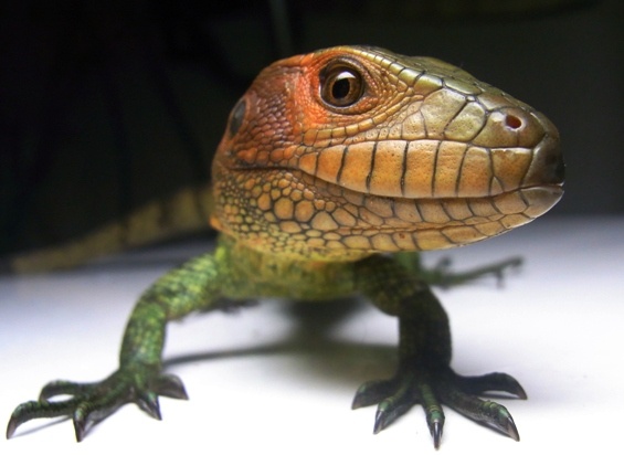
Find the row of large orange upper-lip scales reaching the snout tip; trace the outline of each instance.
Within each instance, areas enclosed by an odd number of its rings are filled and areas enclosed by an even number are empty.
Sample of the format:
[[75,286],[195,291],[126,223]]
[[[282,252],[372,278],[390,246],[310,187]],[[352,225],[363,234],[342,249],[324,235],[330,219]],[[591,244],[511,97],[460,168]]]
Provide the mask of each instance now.
[[411,200],[493,198],[530,189],[560,192],[556,137],[535,147],[477,147],[450,140],[363,141],[298,157],[296,169],[358,193]]

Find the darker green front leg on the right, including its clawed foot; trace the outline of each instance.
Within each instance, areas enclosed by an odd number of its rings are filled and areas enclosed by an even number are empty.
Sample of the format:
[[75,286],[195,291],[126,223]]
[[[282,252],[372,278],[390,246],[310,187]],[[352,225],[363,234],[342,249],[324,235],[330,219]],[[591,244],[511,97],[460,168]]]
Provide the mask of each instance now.
[[445,404],[518,441],[507,409],[477,395],[504,391],[526,399],[525,391],[505,373],[462,377],[451,369],[448,318],[429,286],[388,257],[362,261],[358,276],[363,293],[384,313],[398,316],[400,326],[396,373],[388,380],[362,384],[353,399],[353,409],[378,404],[374,432],[390,425],[414,404],[421,404],[437,448]]

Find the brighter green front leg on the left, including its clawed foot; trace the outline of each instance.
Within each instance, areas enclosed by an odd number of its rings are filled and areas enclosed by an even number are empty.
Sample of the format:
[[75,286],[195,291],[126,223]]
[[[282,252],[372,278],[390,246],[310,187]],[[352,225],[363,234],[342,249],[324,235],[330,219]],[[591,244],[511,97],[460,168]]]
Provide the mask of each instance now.
[[[182,382],[162,373],[161,352],[167,322],[194,310],[216,308],[228,267],[215,254],[205,254],[158,279],[139,298],[126,326],[119,368],[101,382],[53,381],[38,401],[20,404],[7,426],[11,437],[22,423],[39,417],[67,415],[73,419],[76,440],[126,403],[136,403],[160,419],[158,395],[186,399]],[[70,395],[62,401],[50,401]]]

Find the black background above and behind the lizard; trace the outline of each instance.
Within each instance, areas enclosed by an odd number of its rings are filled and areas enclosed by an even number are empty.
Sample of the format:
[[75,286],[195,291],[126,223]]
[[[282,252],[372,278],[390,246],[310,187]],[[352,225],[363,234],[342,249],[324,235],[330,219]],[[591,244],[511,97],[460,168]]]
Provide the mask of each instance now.
[[253,76],[336,44],[433,55],[537,107],[568,165],[552,213],[624,212],[621,0],[0,4],[0,253],[208,179]]

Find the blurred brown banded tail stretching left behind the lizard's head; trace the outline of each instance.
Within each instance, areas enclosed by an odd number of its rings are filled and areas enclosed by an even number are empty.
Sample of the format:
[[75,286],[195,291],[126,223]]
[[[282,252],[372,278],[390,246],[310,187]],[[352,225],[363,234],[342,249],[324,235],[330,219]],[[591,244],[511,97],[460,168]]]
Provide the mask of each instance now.
[[28,274],[74,267],[95,257],[207,229],[210,213],[210,186],[186,188],[83,237],[19,254],[9,260],[9,268]]

